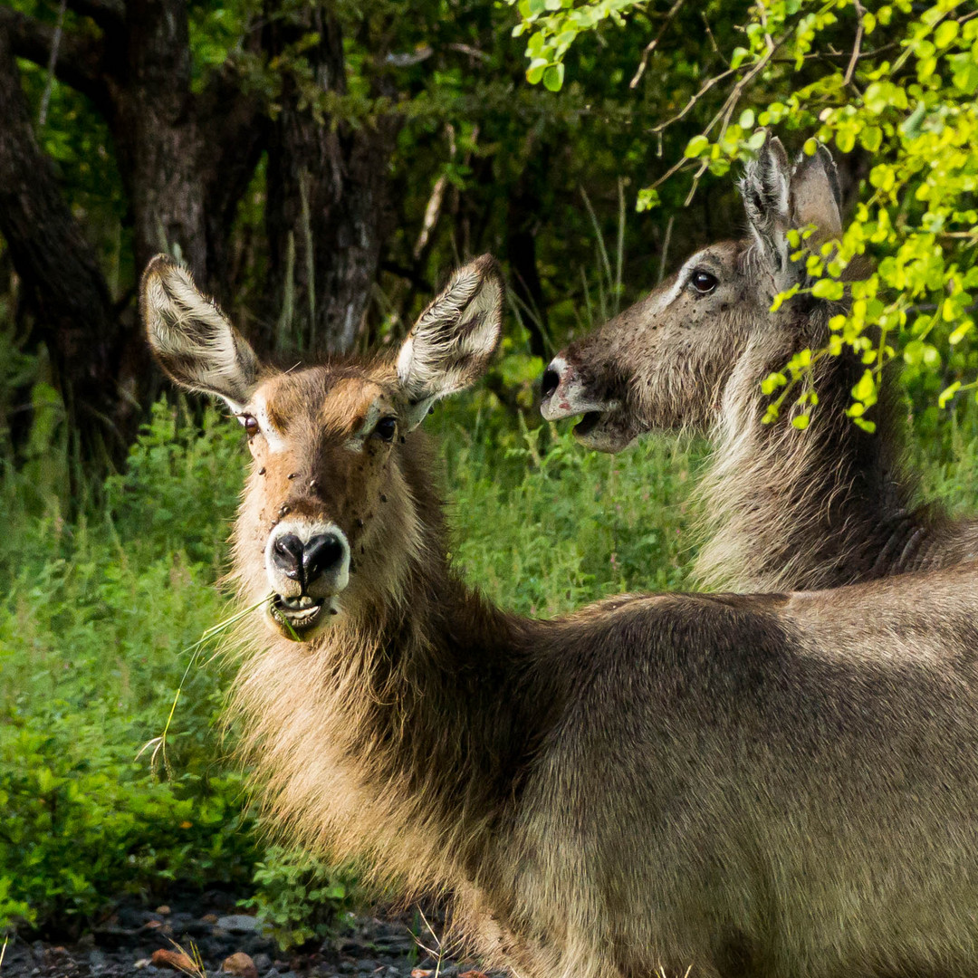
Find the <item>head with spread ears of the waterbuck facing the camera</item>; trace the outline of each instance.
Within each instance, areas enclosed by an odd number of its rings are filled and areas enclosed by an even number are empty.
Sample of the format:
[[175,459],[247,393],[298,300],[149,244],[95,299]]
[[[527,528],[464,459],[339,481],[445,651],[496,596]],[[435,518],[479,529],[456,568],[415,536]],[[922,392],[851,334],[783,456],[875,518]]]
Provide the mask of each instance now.
[[235,570],[244,600],[273,596],[269,621],[283,635],[309,641],[378,596],[404,599],[412,563],[425,560],[430,505],[413,432],[436,400],[481,375],[502,302],[486,255],[455,274],[396,356],[281,371],[259,364],[186,269],[163,255],[148,266],[141,306],[160,366],[221,397],[244,427],[252,462]]

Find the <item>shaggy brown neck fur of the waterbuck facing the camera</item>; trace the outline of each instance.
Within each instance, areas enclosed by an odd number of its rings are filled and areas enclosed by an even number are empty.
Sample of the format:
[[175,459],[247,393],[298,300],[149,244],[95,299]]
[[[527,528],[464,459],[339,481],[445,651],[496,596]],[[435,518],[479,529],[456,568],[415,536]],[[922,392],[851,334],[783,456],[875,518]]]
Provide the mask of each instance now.
[[[413,499],[437,500],[409,461]],[[400,579],[372,593],[371,554],[358,558],[369,597],[309,644],[269,636],[255,649],[252,637],[232,703],[268,822],[365,858],[409,894],[492,884],[491,844],[511,822],[541,704],[556,699],[527,667],[534,624],[467,590],[441,504],[415,505],[421,546]]]

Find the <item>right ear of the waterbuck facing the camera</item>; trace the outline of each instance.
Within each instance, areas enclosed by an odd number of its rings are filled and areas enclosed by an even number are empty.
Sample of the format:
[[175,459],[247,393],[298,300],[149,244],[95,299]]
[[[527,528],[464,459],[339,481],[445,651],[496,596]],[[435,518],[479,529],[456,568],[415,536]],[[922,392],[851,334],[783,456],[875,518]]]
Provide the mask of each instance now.
[[459,269],[422,312],[397,357],[410,427],[436,400],[482,376],[502,335],[503,294],[496,261],[484,254]]

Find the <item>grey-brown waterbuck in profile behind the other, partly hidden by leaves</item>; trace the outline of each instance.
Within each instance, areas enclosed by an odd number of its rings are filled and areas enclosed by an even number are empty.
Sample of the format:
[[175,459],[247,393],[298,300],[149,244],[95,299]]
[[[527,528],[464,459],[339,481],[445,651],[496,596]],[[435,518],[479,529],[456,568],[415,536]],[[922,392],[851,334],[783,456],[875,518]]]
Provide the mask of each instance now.
[[914,508],[886,393],[874,434],[846,416],[865,370],[855,354],[816,364],[819,403],[807,430],[792,426],[787,407],[762,423],[770,398],[761,381],[794,353],[825,347],[841,308],[799,294],[770,311],[779,291],[804,285],[805,263],[790,260],[785,232],[816,225],[817,243],[841,233],[838,180],[823,147],[792,168],[769,139],[740,190],[747,238],[697,252],[561,351],[544,375],[544,416],[584,415],[577,437],[606,452],[653,428],[711,433],[700,488],[706,542],[695,565],[711,587],[833,587],[978,556],[978,524]]

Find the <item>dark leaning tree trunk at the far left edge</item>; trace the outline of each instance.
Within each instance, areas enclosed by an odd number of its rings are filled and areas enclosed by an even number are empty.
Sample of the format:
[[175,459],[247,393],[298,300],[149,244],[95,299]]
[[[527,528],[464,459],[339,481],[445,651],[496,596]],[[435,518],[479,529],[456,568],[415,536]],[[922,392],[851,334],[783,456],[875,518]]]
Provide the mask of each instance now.
[[118,388],[122,328],[93,249],[37,144],[10,40],[0,30],[0,233],[83,457],[119,464],[139,422]]

